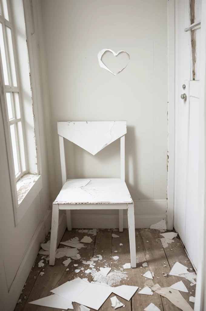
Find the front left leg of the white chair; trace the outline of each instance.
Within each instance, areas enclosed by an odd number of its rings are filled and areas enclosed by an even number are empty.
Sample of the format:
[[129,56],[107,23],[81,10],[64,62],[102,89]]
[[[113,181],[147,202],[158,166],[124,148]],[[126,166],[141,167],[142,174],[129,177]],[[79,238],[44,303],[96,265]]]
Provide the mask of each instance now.
[[58,227],[59,227],[59,205],[53,204],[52,206],[52,229],[51,229],[50,253],[49,253],[49,264],[51,266],[54,266],[55,264]]

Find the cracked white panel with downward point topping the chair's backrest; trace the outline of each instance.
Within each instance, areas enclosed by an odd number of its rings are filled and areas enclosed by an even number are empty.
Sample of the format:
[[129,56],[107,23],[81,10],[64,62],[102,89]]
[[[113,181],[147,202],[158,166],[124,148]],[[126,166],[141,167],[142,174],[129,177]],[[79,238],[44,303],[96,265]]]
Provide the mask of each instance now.
[[57,122],[58,134],[95,155],[127,133],[127,121]]

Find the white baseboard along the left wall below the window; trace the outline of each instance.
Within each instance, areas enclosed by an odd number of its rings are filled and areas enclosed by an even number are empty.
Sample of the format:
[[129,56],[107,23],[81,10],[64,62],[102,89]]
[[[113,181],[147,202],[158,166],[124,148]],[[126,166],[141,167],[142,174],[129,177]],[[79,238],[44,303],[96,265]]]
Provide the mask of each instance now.
[[[29,243],[27,251],[22,259],[20,267],[16,273],[14,281],[11,284],[11,288],[8,293],[7,301],[2,307],[3,311],[13,311],[16,302],[19,299],[22,288],[25,285],[26,279],[29,272],[34,265],[34,261],[37,257],[38,251],[40,249],[40,244],[45,240],[46,234],[48,234],[51,229],[52,211],[48,210],[44,216],[43,221],[41,221]],[[58,231],[58,243],[60,242],[64,232],[66,230],[66,215],[62,214],[59,220],[59,231]]]

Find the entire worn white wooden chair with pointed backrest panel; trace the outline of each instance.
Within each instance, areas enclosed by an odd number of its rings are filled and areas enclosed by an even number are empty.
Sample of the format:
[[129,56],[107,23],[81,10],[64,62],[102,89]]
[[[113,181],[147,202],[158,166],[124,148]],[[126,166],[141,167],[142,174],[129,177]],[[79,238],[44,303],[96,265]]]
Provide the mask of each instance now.
[[[72,230],[70,210],[118,209],[119,231],[123,231],[123,209],[128,210],[131,266],[136,267],[134,203],[125,183],[126,121],[91,121],[57,123],[62,189],[52,206],[52,231],[49,264],[55,264],[59,210],[66,210],[67,228]],[[121,138],[120,138],[121,137]],[[120,138],[121,178],[67,179],[64,138],[95,155]]]

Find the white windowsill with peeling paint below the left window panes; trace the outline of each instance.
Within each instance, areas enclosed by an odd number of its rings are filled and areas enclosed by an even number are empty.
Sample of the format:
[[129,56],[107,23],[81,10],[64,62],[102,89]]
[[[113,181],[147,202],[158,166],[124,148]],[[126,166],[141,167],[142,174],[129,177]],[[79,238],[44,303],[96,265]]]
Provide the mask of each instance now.
[[18,197],[16,211],[19,223],[42,189],[42,175],[25,174],[17,181],[16,188]]

